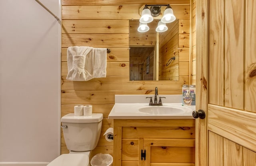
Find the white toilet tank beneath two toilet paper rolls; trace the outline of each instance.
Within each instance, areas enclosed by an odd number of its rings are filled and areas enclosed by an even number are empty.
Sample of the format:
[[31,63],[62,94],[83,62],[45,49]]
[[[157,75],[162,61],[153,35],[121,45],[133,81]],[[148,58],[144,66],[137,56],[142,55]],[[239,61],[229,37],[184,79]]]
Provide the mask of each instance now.
[[74,116],[69,113],[61,118],[64,139],[68,150],[93,150],[100,139],[102,113],[93,113],[91,116]]

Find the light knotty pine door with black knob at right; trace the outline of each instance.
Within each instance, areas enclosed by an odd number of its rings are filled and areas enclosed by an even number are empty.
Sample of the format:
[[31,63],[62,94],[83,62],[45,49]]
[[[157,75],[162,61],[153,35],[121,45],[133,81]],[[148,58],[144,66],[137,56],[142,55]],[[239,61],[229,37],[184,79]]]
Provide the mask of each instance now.
[[256,0],[196,8],[196,166],[255,166]]

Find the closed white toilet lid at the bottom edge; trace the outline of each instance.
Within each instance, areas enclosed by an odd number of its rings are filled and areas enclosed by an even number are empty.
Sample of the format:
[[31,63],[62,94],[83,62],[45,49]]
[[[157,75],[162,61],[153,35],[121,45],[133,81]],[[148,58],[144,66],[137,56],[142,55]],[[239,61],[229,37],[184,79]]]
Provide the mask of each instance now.
[[52,160],[47,166],[88,166],[89,157],[86,154],[62,154]]

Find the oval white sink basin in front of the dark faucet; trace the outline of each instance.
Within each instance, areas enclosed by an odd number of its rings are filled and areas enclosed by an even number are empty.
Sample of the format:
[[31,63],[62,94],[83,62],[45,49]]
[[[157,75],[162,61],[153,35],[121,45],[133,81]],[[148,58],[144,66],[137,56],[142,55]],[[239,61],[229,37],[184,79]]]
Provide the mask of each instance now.
[[143,113],[150,113],[150,114],[177,114],[177,113],[184,113],[182,109],[174,108],[174,107],[158,107],[158,106],[150,106],[140,108],[138,111]]

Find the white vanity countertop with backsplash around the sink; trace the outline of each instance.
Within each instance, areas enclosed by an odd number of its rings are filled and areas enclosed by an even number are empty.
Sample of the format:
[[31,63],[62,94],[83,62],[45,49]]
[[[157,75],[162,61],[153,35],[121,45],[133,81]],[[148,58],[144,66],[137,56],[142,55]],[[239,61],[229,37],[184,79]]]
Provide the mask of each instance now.
[[[163,106],[150,106],[149,98],[154,95],[115,95],[115,105],[108,115],[108,119],[193,119],[192,111],[196,109],[195,105],[182,106],[182,95],[158,95],[162,98]],[[168,103],[167,103],[168,102]],[[144,113],[139,111],[144,107],[170,107],[174,109],[182,109],[181,113]],[[150,109],[149,108],[149,109]]]

